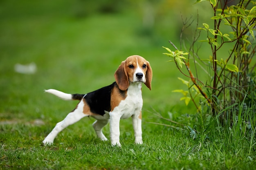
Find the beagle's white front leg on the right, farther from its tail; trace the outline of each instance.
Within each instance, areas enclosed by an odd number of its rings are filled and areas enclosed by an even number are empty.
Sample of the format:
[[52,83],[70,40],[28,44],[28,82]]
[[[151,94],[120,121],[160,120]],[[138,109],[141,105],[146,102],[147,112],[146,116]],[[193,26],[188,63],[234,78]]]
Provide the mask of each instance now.
[[135,144],[142,144],[141,111],[139,115],[132,115],[132,126],[134,129]]

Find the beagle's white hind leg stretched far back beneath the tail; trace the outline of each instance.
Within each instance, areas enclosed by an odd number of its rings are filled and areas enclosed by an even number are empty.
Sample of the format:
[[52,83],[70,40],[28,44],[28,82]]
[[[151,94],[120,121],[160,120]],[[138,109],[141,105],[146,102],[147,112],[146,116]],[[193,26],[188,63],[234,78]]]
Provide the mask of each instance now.
[[82,119],[83,117],[89,116],[83,113],[83,100],[79,102],[76,109],[70,112],[63,121],[60,121],[56,124],[52,132],[47,135],[47,137],[43,140],[43,144],[53,144],[54,138],[58,135],[61,130],[66,128],[69,125],[72,125]]

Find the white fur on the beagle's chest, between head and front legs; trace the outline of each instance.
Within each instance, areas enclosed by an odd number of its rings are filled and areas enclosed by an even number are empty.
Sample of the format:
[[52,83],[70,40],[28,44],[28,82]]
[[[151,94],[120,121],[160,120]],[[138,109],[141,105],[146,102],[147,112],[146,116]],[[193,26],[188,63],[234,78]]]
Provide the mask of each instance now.
[[142,105],[141,84],[134,83],[130,84],[126,99],[122,100],[112,112],[118,114],[121,119],[127,119],[132,115],[140,114]]

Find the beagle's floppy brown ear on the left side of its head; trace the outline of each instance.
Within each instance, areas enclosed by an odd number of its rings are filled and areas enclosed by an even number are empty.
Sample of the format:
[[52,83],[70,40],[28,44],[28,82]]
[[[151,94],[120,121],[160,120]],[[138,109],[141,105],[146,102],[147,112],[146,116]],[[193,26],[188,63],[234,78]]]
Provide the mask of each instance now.
[[121,62],[121,65],[117,68],[114,75],[117,85],[122,91],[126,91],[129,87],[129,79],[126,73],[125,63],[126,61]]

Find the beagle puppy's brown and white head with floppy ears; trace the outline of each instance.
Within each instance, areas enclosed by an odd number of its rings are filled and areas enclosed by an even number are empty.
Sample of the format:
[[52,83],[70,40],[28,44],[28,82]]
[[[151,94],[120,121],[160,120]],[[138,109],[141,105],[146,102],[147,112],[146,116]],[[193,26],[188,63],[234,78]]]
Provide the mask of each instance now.
[[152,69],[147,60],[139,55],[132,55],[115,72],[118,87],[125,91],[130,83],[144,83],[151,90]]

